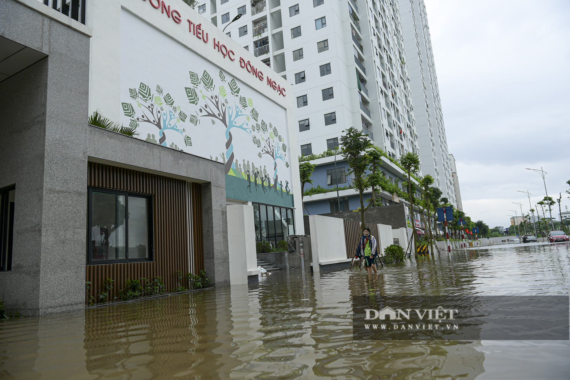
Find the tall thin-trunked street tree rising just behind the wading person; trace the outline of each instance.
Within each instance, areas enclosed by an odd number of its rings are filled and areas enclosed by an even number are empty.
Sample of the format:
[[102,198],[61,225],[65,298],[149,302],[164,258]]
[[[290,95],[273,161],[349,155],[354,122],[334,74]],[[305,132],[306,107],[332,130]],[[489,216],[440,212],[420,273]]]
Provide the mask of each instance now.
[[362,131],[357,130],[355,127],[350,127],[344,130],[344,135],[340,138],[340,148],[343,152],[344,159],[347,160],[349,165],[348,173],[354,176],[352,181],[353,186],[359,191],[360,194],[360,233],[364,233],[364,191],[369,187],[368,178],[366,175],[367,169],[370,164],[370,156],[367,155],[367,149],[372,147],[368,135],[363,134]]

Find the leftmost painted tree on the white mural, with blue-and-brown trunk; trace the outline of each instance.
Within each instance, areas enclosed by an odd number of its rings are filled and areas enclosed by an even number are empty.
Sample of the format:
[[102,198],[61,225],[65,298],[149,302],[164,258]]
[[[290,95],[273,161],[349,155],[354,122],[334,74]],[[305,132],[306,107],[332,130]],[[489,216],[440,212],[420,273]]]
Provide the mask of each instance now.
[[172,130],[182,135],[186,130],[180,128],[179,123],[184,123],[187,116],[179,106],[174,106],[170,94],[164,95],[160,86],[156,86],[156,93],[152,94],[150,87],[141,82],[139,90],[129,88],[129,96],[141,110],[135,110],[131,103],[121,103],[121,106],[125,116],[132,118],[131,123],[149,123],[158,128],[158,144],[167,146],[165,132]]

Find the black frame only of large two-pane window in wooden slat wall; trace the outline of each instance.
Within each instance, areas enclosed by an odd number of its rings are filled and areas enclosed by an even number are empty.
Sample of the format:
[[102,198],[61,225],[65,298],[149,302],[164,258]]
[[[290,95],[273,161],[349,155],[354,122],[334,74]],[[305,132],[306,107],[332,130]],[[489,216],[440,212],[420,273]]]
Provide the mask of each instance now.
[[[91,258],[91,227],[92,227],[92,215],[93,215],[93,196],[92,193],[109,193],[113,195],[123,195],[125,196],[125,258],[120,260],[92,260]],[[148,204],[146,205],[147,212],[147,228],[148,228],[148,258],[129,258],[129,196],[146,198]],[[100,187],[87,187],[87,265],[99,265],[99,264],[120,264],[124,262],[146,262],[154,261],[154,195],[137,193],[133,191],[124,191]]]

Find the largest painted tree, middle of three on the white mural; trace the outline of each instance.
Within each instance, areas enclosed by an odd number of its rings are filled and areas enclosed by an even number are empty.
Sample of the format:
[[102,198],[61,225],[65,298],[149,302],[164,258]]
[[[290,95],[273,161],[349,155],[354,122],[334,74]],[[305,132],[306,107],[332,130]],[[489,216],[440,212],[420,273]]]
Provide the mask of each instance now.
[[[219,71],[219,78],[222,83],[226,81],[226,76],[221,70]],[[190,83],[192,83],[193,87],[185,87],[188,102],[200,105],[198,112],[200,112],[201,117],[219,120],[226,128],[226,174],[230,172],[232,167],[237,170],[234,163],[234,145],[232,143],[233,136],[231,135],[231,130],[238,128],[239,130],[251,134],[250,128],[248,127],[251,119],[250,116],[246,114],[245,108],[247,108],[249,104],[253,104],[253,102],[251,99],[239,96],[240,88],[237,82],[235,82],[235,79],[231,79],[230,82],[227,82],[233,99],[227,99],[228,96],[224,86],[218,87],[218,93],[214,92],[216,87],[214,79],[206,70],[204,70],[202,76],[190,71]],[[201,95],[198,95],[198,92],[200,92]]]

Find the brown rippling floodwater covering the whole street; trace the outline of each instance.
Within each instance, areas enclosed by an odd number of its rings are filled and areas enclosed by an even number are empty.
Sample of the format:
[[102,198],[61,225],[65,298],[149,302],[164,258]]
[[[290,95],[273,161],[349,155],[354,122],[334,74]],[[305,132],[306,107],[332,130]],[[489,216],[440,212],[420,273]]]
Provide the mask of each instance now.
[[569,244],[461,250],[0,322],[0,378],[567,379],[568,341],[353,341],[351,297],[569,294]]

